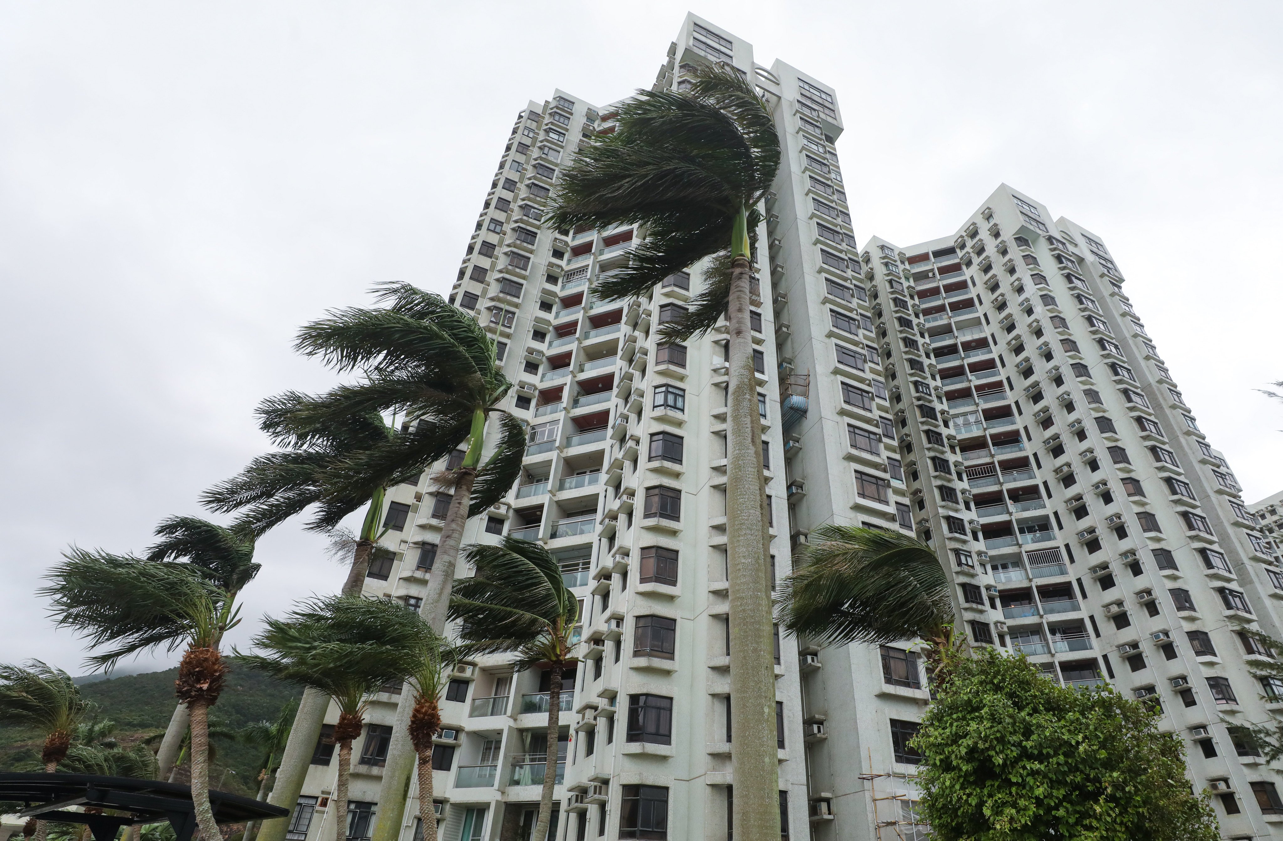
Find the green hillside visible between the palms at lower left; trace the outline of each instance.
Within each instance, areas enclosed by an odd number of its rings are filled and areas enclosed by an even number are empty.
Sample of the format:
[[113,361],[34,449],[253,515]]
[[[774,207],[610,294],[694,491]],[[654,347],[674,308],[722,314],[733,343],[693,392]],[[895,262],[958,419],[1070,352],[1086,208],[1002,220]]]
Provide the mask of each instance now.
[[[117,737],[122,742],[132,744],[168,726],[177,704],[173,696],[177,674],[178,669],[167,669],[96,681],[82,685],[81,694],[103,708],[104,718],[118,724]],[[236,668],[228,674],[222,697],[209,713],[210,724],[236,729],[250,722],[271,720],[282,705],[300,695],[302,690],[294,686],[251,669]],[[0,770],[38,764],[40,746],[40,737],[33,731],[0,727]],[[210,783],[225,791],[257,794],[259,756],[254,749],[226,740],[219,740],[217,749],[217,767],[209,776]]]

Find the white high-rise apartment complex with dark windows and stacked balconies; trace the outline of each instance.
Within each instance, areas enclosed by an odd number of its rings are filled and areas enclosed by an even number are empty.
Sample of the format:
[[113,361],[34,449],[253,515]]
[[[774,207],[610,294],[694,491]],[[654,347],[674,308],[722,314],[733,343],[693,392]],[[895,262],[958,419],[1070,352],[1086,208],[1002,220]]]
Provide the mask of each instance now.
[[[681,90],[703,62],[754,81],[783,147],[753,314],[776,574],[824,523],[917,535],[946,562],[973,644],[1024,653],[1066,685],[1153,697],[1227,837],[1273,837],[1275,774],[1227,722],[1283,710],[1283,686],[1252,672],[1269,653],[1239,633],[1278,636],[1283,570],[1103,238],[1003,186],[953,237],[861,250],[834,90],[756,64],[694,15],[654,86]],[[530,424],[518,486],[464,542],[539,540],[581,599],[550,837],[724,838],[725,328],[686,345],[656,336],[698,292],[699,265],[648,300],[594,299],[644,231],[543,224],[558,172],[611,118],[565,91],[521,110],[450,291],[495,337],[508,408]],[[367,594],[418,606],[448,506],[429,476],[389,492]],[[912,646],[784,636],[776,674],[781,838],[925,837],[908,742],[929,695]],[[503,656],[453,676],[434,751],[441,838],[529,838],[553,750],[548,688]],[[353,841],[373,826],[396,701],[372,700],[354,749]],[[290,841],[332,837],[334,776],[321,744]],[[404,841],[422,841],[416,813],[412,797]]]

